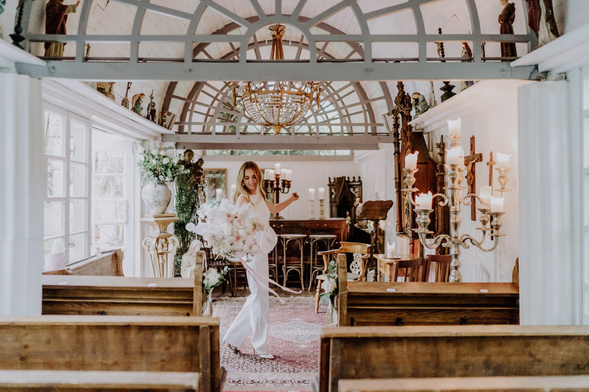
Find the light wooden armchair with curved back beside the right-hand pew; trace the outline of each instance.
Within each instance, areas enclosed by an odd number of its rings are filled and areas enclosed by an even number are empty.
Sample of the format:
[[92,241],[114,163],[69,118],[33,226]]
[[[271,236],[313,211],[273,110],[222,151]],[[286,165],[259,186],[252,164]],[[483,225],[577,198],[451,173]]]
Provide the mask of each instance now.
[[358,242],[340,242],[339,249],[317,252],[323,257],[323,274],[317,276],[317,292],[315,293],[315,313],[319,311],[319,294],[321,293],[321,282],[326,279],[327,266],[331,260],[337,260],[338,254],[352,254],[353,261],[348,272],[348,281],[362,280],[366,275],[366,259],[370,257],[370,245]]

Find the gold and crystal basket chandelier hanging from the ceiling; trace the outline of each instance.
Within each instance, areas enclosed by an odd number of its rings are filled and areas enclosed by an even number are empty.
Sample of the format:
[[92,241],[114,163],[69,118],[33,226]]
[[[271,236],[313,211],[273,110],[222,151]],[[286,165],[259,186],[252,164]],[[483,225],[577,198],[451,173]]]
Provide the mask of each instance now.
[[[272,52],[270,60],[283,60],[282,36],[286,28],[272,25]],[[323,91],[319,82],[244,82],[233,83],[233,108],[241,99],[247,114],[256,123],[269,126],[278,136],[280,129],[291,126],[305,118],[312,102],[319,106]]]

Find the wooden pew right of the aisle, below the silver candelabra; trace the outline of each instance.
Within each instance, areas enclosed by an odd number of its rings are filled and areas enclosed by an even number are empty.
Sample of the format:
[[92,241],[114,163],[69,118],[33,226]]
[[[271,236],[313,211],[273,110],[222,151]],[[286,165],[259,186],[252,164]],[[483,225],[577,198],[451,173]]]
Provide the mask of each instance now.
[[345,274],[342,258],[339,326],[519,324],[514,283],[347,282]]

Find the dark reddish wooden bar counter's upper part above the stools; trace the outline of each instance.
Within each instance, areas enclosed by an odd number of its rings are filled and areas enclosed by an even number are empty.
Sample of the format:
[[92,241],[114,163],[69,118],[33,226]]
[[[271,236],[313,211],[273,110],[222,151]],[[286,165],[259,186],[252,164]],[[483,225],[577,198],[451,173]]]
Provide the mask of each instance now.
[[346,220],[327,219],[270,219],[276,234],[333,234],[337,242],[346,240]]

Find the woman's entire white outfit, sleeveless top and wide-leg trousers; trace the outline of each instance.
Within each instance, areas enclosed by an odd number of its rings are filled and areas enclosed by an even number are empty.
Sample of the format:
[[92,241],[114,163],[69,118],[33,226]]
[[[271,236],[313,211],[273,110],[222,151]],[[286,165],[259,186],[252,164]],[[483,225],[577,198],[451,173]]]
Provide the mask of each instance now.
[[[278,237],[270,227],[270,210],[260,196],[250,195],[252,204],[256,207],[256,216],[264,225],[264,229],[256,232],[256,240],[260,245],[260,251],[247,263],[254,271],[262,276],[268,276],[268,253],[272,252]],[[258,203],[259,201],[259,203]],[[259,279],[255,279],[247,273],[247,283],[250,286],[250,296],[237,314],[233,323],[227,330],[223,340],[239,349],[243,347],[250,331],[253,331],[252,346],[258,354],[269,353],[268,329],[270,319],[270,298],[267,284],[262,286]]]

